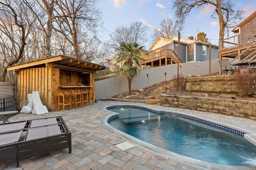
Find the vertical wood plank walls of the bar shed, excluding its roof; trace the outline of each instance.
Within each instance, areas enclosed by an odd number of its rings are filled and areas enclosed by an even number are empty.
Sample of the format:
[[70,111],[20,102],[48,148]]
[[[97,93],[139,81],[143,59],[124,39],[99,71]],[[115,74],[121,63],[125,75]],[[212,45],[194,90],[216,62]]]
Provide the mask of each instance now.
[[[18,75],[18,102],[28,100],[28,94],[38,91],[42,104],[47,107],[48,111],[56,111],[58,109],[57,94],[64,92],[59,86],[78,86],[79,82],[82,84],[89,80],[94,90],[94,73],[81,74],[60,70],[58,67],[22,69]],[[72,89],[68,88],[68,90]]]

